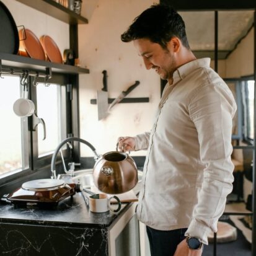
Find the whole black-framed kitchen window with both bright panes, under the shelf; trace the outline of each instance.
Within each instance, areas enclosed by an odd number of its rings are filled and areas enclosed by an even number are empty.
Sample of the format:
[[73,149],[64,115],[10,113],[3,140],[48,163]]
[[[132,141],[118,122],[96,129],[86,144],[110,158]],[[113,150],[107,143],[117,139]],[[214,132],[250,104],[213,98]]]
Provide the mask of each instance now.
[[[71,99],[71,93],[66,90],[69,76],[53,74],[48,81],[50,86],[44,83],[44,77],[38,77],[38,85],[33,86],[33,77],[28,77],[29,99],[35,104],[35,113],[20,118],[15,115],[13,105],[22,97],[21,77],[12,74],[0,78],[0,183],[21,177],[21,171],[29,175],[48,166],[56,146],[71,134],[72,102],[67,100]],[[37,124],[36,117],[45,122],[45,140],[43,125]],[[65,146],[63,156],[66,159],[71,152]]]

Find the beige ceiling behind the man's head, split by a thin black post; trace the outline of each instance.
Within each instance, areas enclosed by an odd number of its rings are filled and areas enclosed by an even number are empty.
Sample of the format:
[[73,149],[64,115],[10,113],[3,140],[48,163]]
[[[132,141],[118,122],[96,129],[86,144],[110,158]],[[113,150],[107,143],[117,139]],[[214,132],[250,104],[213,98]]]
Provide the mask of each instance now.
[[[214,11],[180,11],[196,57],[214,58]],[[254,11],[218,11],[218,58],[226,59],[252,29]]]

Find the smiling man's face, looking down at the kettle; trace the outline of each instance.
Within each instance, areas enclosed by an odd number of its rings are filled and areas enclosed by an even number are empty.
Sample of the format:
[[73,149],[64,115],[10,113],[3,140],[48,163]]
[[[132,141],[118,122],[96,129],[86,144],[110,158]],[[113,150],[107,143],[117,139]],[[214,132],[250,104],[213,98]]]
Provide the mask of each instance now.
[[146,69],[155,69],[162,79],[172,79],[177,65],[171,49],[164,49],[158,43],[152,43],[145,38],[136,39],[133,43],[139,56],[143,58]]

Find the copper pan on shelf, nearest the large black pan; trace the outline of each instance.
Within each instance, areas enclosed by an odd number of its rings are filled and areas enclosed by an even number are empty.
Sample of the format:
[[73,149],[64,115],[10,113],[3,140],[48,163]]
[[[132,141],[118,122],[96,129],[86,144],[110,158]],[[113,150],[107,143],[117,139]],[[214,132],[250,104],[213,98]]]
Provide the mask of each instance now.
[[[37,36],[29,29],[19,30],[19,55],[37,60],[46,60],[45,51]],[[24,39],[25,38],[25,39]]]

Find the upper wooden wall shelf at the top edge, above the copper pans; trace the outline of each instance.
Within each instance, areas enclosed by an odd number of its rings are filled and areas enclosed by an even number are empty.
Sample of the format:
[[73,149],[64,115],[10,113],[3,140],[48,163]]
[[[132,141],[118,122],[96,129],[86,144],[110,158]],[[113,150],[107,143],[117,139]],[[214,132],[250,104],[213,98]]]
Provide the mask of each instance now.
[[27,6],[32,7],[40,12],[48,14],[52,17],[55,17],[58,20],[66,22],[71,25],[75,24],[87,24],[88,20],[85,17],[82,17],[76,12],[69,10],[68,8],[62,6],[58,2],[53,0],[16,0],[22,2]]

